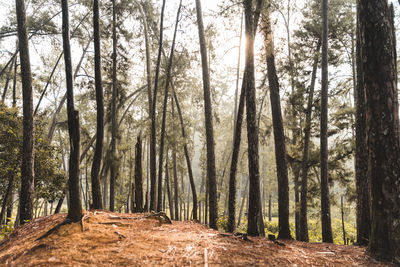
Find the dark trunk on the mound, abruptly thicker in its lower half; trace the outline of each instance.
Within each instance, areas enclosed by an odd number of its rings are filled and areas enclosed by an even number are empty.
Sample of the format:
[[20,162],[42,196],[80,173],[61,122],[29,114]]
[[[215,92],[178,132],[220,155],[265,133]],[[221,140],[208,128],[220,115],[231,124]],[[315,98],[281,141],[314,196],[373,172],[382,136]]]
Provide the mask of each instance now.
[[79,189],[79,113],[74,108],[74,91],[71,65],[71,46],[69,43],[69,15],[68,0],[61,2],[62,7],[62,29],[63,29],[63,48],[65,59],[65,76],[67,83],[67,115],[68,132],[70,138],[70,157],[68,166],[68,189],[69,189],[69,208],[67,218],[71,221],[79,221],[82,216],[81,194]]

